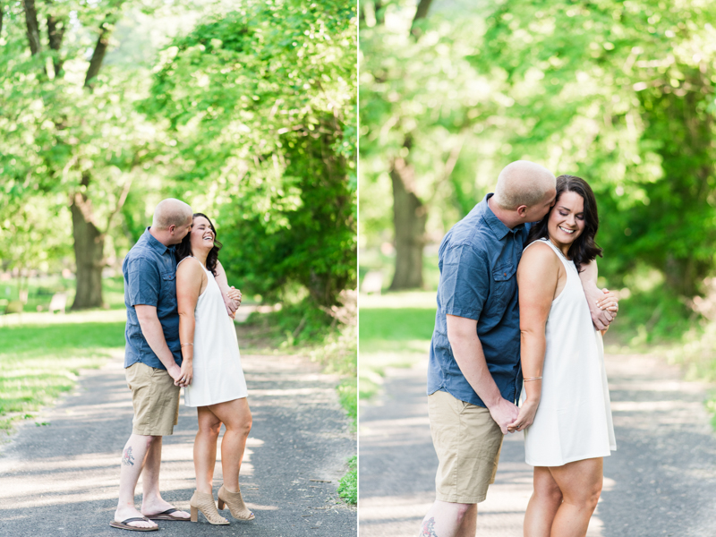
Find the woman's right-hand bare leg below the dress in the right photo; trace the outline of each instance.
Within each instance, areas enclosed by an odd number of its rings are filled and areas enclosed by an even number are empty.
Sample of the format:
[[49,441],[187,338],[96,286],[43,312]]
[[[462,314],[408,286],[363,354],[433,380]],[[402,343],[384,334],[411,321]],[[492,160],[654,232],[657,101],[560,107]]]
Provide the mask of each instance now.
[[550,467],[550,473],[564,499],[552,522],[550,537],[584,537],[601,494],[601,457]]

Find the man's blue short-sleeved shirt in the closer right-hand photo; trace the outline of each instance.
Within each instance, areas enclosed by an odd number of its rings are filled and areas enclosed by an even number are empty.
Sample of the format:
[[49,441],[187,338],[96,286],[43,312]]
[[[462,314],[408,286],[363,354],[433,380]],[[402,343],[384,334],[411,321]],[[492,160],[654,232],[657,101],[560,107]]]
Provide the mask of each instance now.
[[463,376],[447,341],[447,315],[477,320],[477,336],[499,392],[516,403],[522,389],[517,265],[529,225],[510,229],[487,204],[475,205],[440,243],[438,311],[430,342],[428,395],[438,391],[485,406]]

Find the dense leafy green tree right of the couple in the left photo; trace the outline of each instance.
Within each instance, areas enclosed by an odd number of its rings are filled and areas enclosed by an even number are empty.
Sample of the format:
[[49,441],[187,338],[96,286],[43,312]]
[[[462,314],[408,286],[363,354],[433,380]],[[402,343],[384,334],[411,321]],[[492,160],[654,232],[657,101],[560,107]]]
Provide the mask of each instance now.
[[142,105],[166,118],[177,192],[209,189],[229,276],[261,294],[296,282],[329,306],[354,285],[354,17],[246,2],[176,38]]

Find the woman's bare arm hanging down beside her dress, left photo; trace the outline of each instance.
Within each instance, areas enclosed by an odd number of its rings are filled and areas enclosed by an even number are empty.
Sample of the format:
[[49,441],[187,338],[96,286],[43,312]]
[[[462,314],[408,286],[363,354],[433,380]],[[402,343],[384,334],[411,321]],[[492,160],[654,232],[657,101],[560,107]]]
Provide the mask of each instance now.
[[[179,341],[182,344],[182,379],[177,386],[192,383],[194,360],[194,310],[199,301],[203,278],[207,277],[198,260],[184,261],[176,269],[176,305],[179,311]],[[192,344],[192,345],[186,345]]]

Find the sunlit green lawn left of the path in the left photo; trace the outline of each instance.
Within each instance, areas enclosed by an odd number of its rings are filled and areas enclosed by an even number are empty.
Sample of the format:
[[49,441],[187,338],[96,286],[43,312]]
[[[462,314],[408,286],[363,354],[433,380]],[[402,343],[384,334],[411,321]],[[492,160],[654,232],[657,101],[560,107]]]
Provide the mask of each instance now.
[[[116,318],[107,311],[92,316]],[[0,430],[9,432],[16,420],[33,417],[72,389],[81,369],[99,367],[122,348],[124,322],[0,327]]]

